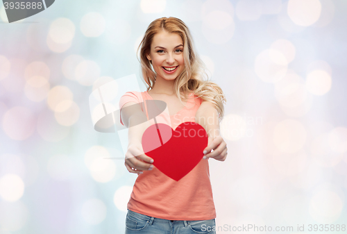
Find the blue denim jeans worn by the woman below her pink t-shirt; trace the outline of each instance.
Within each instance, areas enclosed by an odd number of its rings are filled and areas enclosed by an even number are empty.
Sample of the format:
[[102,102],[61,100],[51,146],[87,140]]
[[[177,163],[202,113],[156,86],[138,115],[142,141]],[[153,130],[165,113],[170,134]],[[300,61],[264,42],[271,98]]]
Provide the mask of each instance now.
[[132,210],[126,214],[126,234],[216,234],[215,219],[168,220],[142,215]]

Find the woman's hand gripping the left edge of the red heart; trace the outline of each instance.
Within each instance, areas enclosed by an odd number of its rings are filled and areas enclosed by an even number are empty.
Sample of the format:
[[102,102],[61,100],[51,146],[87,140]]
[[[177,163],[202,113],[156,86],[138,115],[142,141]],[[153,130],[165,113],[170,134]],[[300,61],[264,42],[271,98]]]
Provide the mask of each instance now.
[[144,154],[141,144],[130,144],[126,151],[125,165],[130,173],[142,174],[143,170],[151,170],[153,159]]

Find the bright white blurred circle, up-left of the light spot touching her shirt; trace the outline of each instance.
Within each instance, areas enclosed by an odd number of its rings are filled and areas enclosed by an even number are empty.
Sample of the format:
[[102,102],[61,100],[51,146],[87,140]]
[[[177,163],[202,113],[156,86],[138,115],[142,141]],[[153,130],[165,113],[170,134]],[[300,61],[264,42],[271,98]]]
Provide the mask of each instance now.
[[111,181],[116,174],[115,162],[112,159],[99,157],[90,165],[90,174],[94,178],[94,181],[100,183]]

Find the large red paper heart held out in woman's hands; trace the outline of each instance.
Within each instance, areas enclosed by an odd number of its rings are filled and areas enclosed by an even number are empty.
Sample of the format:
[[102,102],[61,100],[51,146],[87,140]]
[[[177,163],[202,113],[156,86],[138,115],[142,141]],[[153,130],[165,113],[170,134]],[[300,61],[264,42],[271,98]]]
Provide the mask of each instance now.
[[153,124],[142,135],[146,156],[153,158],[153,165],[175,181],[192,171],[207,146],[205,128],[196,122],[183,122],[175,131],[167,124]]

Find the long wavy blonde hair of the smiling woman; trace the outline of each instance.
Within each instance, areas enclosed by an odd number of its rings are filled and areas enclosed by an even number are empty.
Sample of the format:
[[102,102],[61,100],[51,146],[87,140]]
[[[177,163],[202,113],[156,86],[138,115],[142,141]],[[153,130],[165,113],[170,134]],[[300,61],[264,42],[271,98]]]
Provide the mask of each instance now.
[[[194,91],[195,95],[203,99],[203,101],[210,101],[214,104],[214,107],[219,113],[220,121],[224,116],[223,104],[226,103],[226,98],[224,97],[221,87],[208,80],[208,74],[205,72],[206,66],[201,58],[199,58],[198,54],[195,53],[192,35],[185,23],[178,18],[162,17],[155,19],[149,24],[144,38],[137,48],[137,53],[140,49],[139,62],[142,67],[142,76],[148,85],[147,91],[153,88],[156,74],[151,68],[152,61],[148,60],[146,55],[151,51],[151,43],[154,35],[163,30],[168,33],[177,33],[183,40],[185,69],[183,69],[175,80],[174,93],[182,102],[180,92],[186,94],[189,90]],[[205,74],[206,80],[203,78],[203,74]]]

